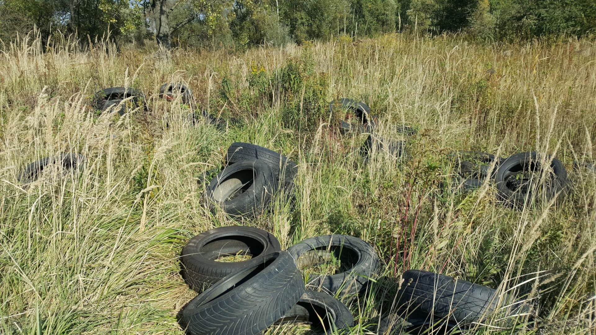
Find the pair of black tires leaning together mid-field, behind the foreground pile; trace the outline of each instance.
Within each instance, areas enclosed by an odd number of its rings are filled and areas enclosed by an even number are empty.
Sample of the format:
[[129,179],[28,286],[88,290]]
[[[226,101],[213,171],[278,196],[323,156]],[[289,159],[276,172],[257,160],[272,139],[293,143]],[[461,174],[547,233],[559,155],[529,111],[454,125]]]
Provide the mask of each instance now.
[[226,166],[206,187],[211,210],[219,208],[235,219],[252,219],[265,212],[274,194],[290,195],[298,166],[283,154],[250,143],[229,146]]

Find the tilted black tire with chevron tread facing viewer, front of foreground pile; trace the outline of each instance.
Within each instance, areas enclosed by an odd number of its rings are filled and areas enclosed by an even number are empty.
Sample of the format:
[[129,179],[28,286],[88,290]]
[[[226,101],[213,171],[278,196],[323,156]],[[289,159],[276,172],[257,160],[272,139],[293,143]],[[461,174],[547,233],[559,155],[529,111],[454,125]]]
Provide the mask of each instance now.
[[290,311],[304,292],[290,254],[270,253],[198,294],[182,311],[181,324],[194,335],[257,335]]

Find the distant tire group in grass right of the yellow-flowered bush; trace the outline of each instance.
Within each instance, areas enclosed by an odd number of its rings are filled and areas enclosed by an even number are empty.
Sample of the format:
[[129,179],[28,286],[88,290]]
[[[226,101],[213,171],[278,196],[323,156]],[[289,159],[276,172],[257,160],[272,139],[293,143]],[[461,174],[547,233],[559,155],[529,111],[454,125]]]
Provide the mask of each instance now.
[[[338,125],[340,134],[345,135],[350,132],[370,133],[366,141],[364,141],[364,145],[360,148],[360,154],[364,158],[365,163],[368,162],[373,151],[384,151],[396,158],[405,156],[405,143],[403,141],[395,141],[374,135],[374,131],[378,126],[378,117],[371,113],[370,107],[367,104],[348,98],[340,98],[331,101],[329,110],[332,115],[344,114],[347,111],[349,112],[347,113],[348,115],[353,114],[356,117],[356,123],[349,123],[343,118],[340,120]],[[414,129],[408,126],[401,126],[398,132],[404,135],[413,135],[415,133]]]

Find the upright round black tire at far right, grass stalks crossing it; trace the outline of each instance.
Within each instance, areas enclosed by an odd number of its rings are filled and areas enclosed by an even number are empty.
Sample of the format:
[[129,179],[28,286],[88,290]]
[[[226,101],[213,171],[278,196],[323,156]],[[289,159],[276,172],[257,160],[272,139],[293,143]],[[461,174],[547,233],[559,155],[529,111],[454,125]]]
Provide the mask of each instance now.
[[[546,201],[557,196],[557,200],[563,199],[567,195],[569,187],[567,171],[560,160],[548,159],[551,160],[550,168],[553,175],[548,180],[538,181],[539,188],[535,187],[536,181],[532,181],[532,178],[527,179],[527,176],[532,173],[542,173],[541,160],[535,151],[513,154],[505,159],[495,173],[495,185],[499,197],[514,206],[523,206],[526,199],[531,199],[534,196],[544,197]],[[511,178],[520,172],[523,172],[523,177],[526,177],[522,180],[528,182],[519,182]]]

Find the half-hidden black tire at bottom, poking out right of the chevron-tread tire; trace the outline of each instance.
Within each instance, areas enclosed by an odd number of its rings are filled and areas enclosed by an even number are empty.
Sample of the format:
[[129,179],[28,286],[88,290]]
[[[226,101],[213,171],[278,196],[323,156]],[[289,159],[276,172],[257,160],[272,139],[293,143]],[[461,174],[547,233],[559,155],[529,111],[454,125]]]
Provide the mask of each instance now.
[[353,327],[354,318],[346,305],[327,293],[306,291],[300,300],[284,317],[275,322],[282,325],[288,323],[311,324],[311,330],[327,330]]

